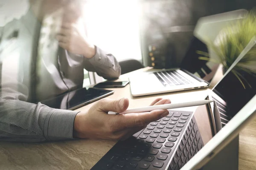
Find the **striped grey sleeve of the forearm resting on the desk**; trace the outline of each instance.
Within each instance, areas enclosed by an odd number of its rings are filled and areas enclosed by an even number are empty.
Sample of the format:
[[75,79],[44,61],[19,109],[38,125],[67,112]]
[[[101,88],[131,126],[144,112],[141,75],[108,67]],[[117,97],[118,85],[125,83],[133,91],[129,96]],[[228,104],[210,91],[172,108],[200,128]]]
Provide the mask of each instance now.
[[28,90],[21,83],[2,82],[0,90],[0,141],[73,139],[73,123],[78,112],[26,102]]

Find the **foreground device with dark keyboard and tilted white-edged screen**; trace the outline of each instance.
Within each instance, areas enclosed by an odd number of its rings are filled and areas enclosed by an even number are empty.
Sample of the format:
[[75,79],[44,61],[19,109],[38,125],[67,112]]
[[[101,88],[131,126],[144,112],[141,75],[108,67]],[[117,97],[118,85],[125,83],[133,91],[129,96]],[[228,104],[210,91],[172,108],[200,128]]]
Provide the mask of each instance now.
[[[169,110],[168,116],[117,142],[91,170],[209,170],[207,162],[256,116],[256,77],[244,74],[250,83],[244,88],[231,71],[235,65],[209,90],[213,105],[206,105],[203,112],[199,107]],[[222,169],[238,169],[238,160]]]

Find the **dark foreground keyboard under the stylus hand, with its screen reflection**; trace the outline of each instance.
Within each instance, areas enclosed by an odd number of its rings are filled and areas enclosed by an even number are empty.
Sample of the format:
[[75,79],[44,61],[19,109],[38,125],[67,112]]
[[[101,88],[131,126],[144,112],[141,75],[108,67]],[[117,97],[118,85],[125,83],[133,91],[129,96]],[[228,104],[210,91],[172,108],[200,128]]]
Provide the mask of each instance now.
[[[170,111],[125,141],[117,142],[91,170],[179,170],[203,146],[190,118],[192,112]],[[177,148],[177,151],[175,152]]]

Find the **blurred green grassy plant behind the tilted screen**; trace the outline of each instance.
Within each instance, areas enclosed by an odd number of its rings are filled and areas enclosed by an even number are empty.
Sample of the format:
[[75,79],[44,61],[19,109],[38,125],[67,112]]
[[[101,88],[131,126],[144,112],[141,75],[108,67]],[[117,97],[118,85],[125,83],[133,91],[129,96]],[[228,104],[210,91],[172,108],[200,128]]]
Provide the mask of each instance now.
[[[208,49],[211,49],[216,54],[216,58],[210,58],[208,53],[197,51],[198,54],[203,56],[199,57],[199,59],[222,64],[224,69],[228,69],[255,36],[256,10],[252,10],[235,24],[224,28],[215,42],[207,42]],[[256,45],[245,54],[231,71],[243,86],[242,79],[245,82],[247,80],[241,75],[241,72],[246,72],[256,77]],[[248,83],[248,85],[250,84]]]

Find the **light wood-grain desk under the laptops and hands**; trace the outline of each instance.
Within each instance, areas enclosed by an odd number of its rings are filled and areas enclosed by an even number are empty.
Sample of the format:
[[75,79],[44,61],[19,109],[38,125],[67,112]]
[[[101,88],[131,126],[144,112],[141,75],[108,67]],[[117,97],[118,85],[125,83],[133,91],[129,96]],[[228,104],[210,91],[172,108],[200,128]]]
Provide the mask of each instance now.
[[[142,70],[139,70],[142,71]],[[127,80],[128,75],[120,80]],[[109,98],[118,99],[123,96],[130,99],[130,107],[149,105],[157,96],[169,98],[175,102],[186,99],[203,99],[207,89],[186,91],[154,96],[133,98],[130,87],[115,89]],[[79,108],[87,110],[92,104]],[[239,170],[256,170],[256,119],[240,133]],[[0,142],[0,170],[89,170],[116,141],[108,140],[74,140],[48,142],[42,144]]]

